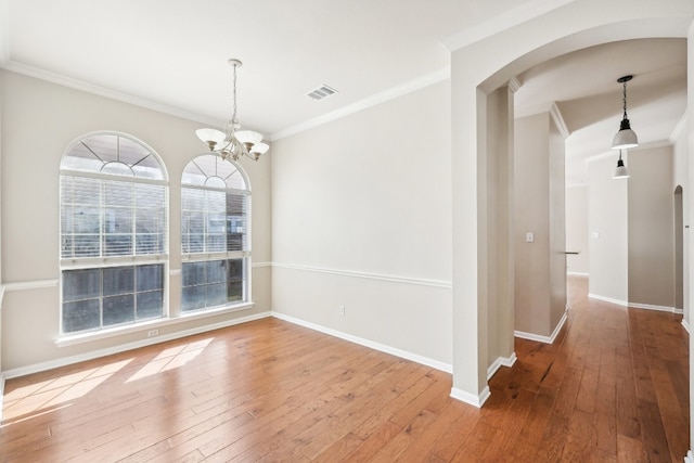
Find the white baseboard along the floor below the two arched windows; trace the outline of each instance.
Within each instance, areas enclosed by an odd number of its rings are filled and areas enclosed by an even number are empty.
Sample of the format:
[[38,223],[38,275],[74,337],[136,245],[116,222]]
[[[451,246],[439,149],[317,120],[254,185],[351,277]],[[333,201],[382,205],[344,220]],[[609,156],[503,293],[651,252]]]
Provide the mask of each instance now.
[[149,337],[142,340],[137,340],[134,343],[121,344],[114,347],[108,347],[105,349],[92,350],[90,352],[80,353],[72,357],[63,357],[61,359],[50,360],[47,362],[35,363],[27,366],[21,366],[17,369],[11,369],[2,372],[2,375],[5,380],[11,380],[13,377],[25,376],[31,373],[38,373],[47,370],[51,370],[59,366],[65,366],[73,363],[82,362],[86,360],[93,360],[100,357],[111,356],[113,353],[124,352],[126,350],[138,349],[140,347],[151,346],[153,344],[164,343],[166,340],[178,339],[185,336],[192,336],[194,334],[205,333],[213,330],[219,330],[222,327],[233,326],[235,324],[246,323],[254,320],[260,320],[270,317],[270,312],[257,313],[254,316],[242,317],[239,319],[226,320],[220,323],[208,324],[204,326],[197,326],[191,330],[179,331],[176,333],[171,333],[168,335],[162,335],[156,337]]

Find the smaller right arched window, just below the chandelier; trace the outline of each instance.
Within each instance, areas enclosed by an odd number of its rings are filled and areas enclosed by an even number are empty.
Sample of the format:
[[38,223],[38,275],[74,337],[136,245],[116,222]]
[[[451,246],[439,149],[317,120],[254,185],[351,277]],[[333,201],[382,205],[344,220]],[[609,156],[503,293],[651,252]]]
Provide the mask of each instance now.
[[181,311],[248,301],[250,192],[240,167],[205,154],[181,179]]

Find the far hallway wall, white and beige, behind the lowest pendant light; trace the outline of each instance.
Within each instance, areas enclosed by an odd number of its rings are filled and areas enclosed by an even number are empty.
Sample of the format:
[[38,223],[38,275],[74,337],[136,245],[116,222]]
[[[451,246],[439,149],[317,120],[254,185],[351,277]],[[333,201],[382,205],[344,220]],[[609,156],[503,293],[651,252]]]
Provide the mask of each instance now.
[[613,179],[618,153],[589,162],[591,297],[674,308],[672,147],[625,152],[628,179]]

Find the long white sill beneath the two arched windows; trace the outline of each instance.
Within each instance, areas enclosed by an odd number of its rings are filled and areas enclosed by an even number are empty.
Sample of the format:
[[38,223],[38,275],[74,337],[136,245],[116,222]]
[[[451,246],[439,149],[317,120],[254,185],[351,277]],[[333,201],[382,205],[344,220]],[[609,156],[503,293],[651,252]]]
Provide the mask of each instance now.
[[[126,334],[138,333],[138,332],[142,332],[142,334],[144,335],[143,337],[146,339],[150,337],[147,336],[147,333],[146,333],[150,330],[171,326],[179,323],[190,322],[192,320],[206,319],[206,318],[216,317],[224,313],[237,312],[241,310],[250,309],[253,307],[254,307],[254,303],[244,303],[235,306],[220,307],[218,309],[197,311],[197,312],[191,312],[191,313],[181,313],[179,317],[176,317],[176,318],[156,319],[156,320],[146,321],[138,324],[129,324],[125,326],[117,326],[112,329],[93,331],[89,333],[66,335],[55,339],[55,345],[57,347],[74,346],[77,344],[91,343],[94,340],[107,339],[110,337],[123,336]],[[156,338],[157,336],[151,336],[151,337]]]

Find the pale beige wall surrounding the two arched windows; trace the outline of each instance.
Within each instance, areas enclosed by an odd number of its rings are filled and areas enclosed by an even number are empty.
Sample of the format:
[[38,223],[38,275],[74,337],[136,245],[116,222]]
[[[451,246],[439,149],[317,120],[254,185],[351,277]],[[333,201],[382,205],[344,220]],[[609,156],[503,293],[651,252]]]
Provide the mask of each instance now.
[[[2,368],[12,374],[49,368],[124,346],[151,343],[147,327],[65,347],[55,344],[60,326],[59,166],[76,138],[113,130],[152,146],[169,173],[169,298],[180,301],[180,176],[185,164],[204,152],[194,134],[201,125],[75,89],[1,73],[2,129]],[[38,137],[38,139],[37,139]],[[37,141],[38,140],[38,141]],[[271,154],[245,163],[253,189],[255,262],[271,260]],[[270,267],[253,269],[253,309],[214,317],[181,318],[158,327],[159,338],[201,330],[270,310]]]

